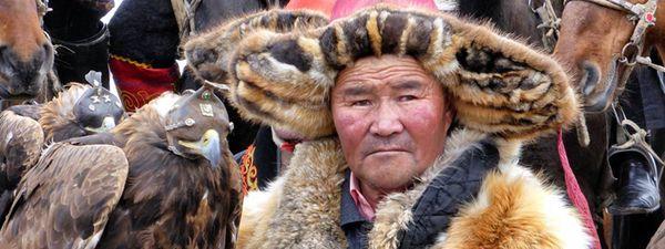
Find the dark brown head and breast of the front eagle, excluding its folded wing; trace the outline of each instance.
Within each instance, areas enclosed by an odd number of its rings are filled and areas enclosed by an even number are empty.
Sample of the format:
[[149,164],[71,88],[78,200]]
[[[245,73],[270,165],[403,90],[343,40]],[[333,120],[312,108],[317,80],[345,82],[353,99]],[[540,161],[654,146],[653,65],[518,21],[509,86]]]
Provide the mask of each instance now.
[[[208,91],[176,103],[174,96],[163,95],[113,131],[115,143],[124,145],[130,176],[100,246],[233,248],[242,201],[239,173],[224,139],[229,128],[226,111]],[[203,94],[215,103],[214,117],[202,115],[200,104],[207,102]],[[196,123],[164,128],[186,118]],[[178,143],[202,141],[211,129],[222,143],[217,166]]]

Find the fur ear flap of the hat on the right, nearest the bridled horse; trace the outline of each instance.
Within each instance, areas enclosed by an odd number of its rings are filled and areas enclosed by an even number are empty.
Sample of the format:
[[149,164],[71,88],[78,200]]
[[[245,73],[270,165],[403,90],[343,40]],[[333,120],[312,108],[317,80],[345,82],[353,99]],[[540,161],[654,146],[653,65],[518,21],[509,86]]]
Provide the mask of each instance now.
[[508,138],[533,138],[573,123],[577,98],[550,56],[487,27],[451,20],[457,40],[456,97],[460,122]]

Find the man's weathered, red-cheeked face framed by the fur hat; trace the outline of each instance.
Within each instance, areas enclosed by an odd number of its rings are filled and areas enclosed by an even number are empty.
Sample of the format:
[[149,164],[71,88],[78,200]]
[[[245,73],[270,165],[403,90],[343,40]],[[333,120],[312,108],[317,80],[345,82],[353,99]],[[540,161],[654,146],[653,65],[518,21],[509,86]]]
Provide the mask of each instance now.
[[332,118],[344,155],[360,181],[407,188],[442,153],[452,121],[443,91],[412,58],[358,60],[338,75]]

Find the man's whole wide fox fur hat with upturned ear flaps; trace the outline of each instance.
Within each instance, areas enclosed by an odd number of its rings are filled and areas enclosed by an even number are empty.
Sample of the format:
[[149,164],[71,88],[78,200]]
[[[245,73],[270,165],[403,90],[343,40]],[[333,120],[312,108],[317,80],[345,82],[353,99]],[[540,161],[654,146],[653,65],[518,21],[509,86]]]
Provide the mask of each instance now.
[[330,23],[316,12],[269,10],[221,25],[185,50],[200,76],[231,87],[228,98],[246,118],[307,138],[335,134],[329,93],[340,70],[383,54],[418,60],[469,128],[529,139],[579,115],[553,59],[429,10],[378,4]]

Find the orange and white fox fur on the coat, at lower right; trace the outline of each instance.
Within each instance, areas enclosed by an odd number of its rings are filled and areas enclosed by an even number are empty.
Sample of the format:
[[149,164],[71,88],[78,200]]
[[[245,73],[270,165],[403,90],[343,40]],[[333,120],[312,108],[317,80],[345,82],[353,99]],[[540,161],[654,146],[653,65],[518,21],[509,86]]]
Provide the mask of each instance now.
[[432,248],[590,248],[576,210],[543,183],[518,165],[488,175],[478,199]]

